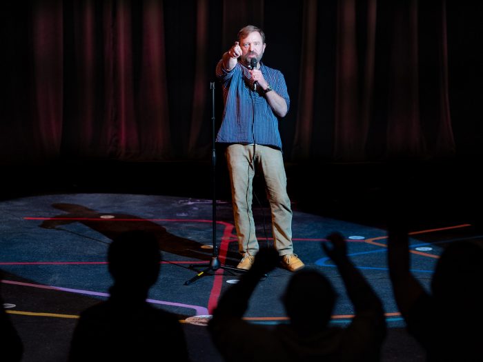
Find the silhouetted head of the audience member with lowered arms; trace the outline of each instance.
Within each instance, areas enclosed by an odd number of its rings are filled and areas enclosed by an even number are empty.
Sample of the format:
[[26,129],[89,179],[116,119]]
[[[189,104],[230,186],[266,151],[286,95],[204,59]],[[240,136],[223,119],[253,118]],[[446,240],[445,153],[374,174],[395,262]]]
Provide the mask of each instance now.
[[150,232],[132,230],[119,234],[109,245],[109,272],[115,285],[148,290],[159,276],[161,255]]

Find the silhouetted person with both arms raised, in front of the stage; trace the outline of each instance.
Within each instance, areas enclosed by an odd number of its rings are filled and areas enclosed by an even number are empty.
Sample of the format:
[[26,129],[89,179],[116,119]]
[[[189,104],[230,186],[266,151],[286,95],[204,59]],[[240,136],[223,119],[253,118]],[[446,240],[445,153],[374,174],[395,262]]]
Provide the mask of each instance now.
[[317,270],[296,272],[282,296],[288,325],[267,328],[242,319],[250,295],[264,274],[279,262],[273,249],[262,249],[239,283],[228,289],[213,312],[208,330],[226,361],[379,361],[386,336],[382,303],[346,255],[339,233],[328,235],[332,248],[323,244],[337,265],[355,316],[346,328],[329,326],[336,294]]

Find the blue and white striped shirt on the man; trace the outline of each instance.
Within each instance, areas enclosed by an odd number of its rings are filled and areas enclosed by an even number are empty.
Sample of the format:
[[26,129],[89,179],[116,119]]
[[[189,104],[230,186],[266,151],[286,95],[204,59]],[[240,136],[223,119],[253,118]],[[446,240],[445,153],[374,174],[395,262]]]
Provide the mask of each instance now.
[[[290,106],[284,75],[279,70],[260,63],[260,70],[270,86]],[[282,150],[278,119],[266,101],[263,90],[250,86],[248,68],[237,63],[227,71],[220,60],[216,68],[217,79],[223,88],[225,109],[216,141],[219,143],[257,143]],[[260,92],[260,93],[259,93]]]

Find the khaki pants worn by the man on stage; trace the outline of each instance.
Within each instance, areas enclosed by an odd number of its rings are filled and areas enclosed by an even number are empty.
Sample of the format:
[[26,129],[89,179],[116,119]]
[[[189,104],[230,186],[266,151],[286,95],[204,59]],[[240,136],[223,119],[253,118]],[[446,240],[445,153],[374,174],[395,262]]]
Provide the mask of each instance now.
[[225,154],[239,252],[255,255],[259,250],[252,213],[253,177],[257,167],[264,174],[275,249],[280,256],[293,254],[292,210],[282,151],[264,145],[233,144],[226,148]]

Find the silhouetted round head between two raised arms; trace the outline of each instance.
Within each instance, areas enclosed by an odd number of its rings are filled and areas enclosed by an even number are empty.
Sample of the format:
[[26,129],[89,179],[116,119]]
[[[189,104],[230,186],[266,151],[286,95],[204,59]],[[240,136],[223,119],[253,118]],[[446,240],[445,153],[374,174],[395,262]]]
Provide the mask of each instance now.
[[331,282],[323,274],[304,269],[292,276],[282,301],[290,324],[299,332],[311,334],[326,327],[336,297]]

